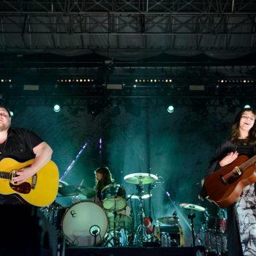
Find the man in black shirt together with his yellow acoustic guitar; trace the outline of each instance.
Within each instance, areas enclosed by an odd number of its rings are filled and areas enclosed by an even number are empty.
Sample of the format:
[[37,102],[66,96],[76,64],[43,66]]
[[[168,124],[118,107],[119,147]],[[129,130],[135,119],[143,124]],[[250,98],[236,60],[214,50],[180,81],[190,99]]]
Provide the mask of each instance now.
[[0,105],[0,204],[47,206],[59,185],[59,171],[50,161],[53,150],[34,132],[10,124],[10,111]]

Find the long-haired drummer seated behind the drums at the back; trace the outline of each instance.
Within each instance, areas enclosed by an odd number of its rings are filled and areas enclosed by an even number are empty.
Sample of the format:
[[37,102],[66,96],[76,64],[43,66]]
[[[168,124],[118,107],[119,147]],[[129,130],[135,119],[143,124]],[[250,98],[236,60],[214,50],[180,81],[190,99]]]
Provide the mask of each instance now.
[[[104,189],[106,186],[113,185],[116,181],[112,178],[112,175],[110,173],[110,170],[108,167],[98,167],[96,170],[94,170],[95,173],[95,187],[97,194],[94,197],[94,203],[97,203],[99,206],[102,207],[102,201],[104,198],[102,198],[102,189]],[[118,192],[117,192],[118,195]],[[126,197],[126,192],[124,187],[121,189],[121,195],[118,195],[121,197]]]

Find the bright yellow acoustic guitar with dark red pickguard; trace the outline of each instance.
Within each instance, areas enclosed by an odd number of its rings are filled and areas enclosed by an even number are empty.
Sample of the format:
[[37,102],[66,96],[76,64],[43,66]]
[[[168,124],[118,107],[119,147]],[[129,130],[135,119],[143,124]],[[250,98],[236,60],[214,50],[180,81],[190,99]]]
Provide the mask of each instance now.
[[59,170],[53,161],[48,162],[34,176],[21,184],[14,184],[12,177],[23,167],[34,162],[17,162],[4,158],[0,162],[0,194],[19,195],[23,200],[34,206],[48,206],[56,199],[59,188]]

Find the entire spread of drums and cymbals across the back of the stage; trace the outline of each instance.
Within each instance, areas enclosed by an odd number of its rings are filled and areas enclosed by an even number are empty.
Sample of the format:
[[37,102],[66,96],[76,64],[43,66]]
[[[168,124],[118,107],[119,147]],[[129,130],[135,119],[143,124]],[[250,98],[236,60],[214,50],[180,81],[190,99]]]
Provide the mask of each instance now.
[[[151,225],[151,190],[162,184],[159,177],[151,173],[132,173],[124,176],[124,181],[135,185],[137,191],[127,196],[124,187],[116,182],[109,184],[101,191],[101,206],[94,202],[94,189],[59,181],[59,196],[72,197],[72,205],[61,206],[54,202],[42,211],[56,227],[59,238],[71,246],[146,246],[152,243],[153,246],[184,246],[183,230],[176,214],[161,217]],[[146,185],[147,192],[144,192]],[[79,200],[80,195],[87,199]],[[143,209],[146,198],[149,200],[149,217]],[[137,203],[136,225],[131,199]],[[226,245],[219,246],[227,237],[225,218],[209,217],[206,208],[191,203],[181,203],[180,207],[189,213],[193,246],[196,243],[205,246],[208,252],[225,250]],[[196,212],[200,213],[201,225],[197,234],[193,227]]]

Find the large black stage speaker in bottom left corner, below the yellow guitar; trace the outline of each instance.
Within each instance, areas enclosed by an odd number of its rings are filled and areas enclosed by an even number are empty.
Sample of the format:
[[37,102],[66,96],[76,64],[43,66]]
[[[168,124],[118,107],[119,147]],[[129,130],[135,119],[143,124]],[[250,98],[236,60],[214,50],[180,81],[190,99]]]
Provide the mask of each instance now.
[[56,229],[35,206],[0,205],[1,255],[56,256]]

